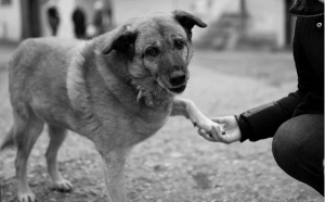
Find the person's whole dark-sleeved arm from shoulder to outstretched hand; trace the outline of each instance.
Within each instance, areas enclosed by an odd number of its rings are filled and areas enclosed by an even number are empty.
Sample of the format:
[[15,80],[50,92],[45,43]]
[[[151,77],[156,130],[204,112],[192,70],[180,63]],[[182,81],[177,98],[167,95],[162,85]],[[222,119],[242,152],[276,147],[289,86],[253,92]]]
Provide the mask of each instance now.
[[[217,117],[212,121],[224,124],[225,136],[206,138],[209,141],[231,143],[249,139],[257,141],[273,137],[287,119],[303,113],[324,113],[324,34],[316,27],[323,16],[298,17],[294,39],[294,58],[298,74],[298,90],[278,101],[263,104],[238,116]],[[323,24],[323,23],[322,23]],[[237,122],[236,122],[237,121]],[[227,126],[227,127],[226,127]]]

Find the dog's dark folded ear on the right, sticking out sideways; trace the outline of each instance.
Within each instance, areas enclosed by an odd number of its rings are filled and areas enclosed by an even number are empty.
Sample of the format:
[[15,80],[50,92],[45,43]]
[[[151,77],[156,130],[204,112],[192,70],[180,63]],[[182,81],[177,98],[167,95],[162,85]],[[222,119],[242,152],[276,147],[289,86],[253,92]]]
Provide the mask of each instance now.
[[176,10],[173,13],[173,17],[184,27],[188,35],[188,39],[191,40],[192,38],[192,28],[194,25],[198,27],[207,27],[208,25],[205,24],[202,20],[198,17],[181,10]]

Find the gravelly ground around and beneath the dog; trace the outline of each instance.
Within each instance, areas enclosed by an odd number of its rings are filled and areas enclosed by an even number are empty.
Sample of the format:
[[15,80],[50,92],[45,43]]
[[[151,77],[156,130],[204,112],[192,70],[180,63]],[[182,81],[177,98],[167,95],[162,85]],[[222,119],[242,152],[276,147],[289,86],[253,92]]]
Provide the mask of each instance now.
[[[0,142],[12,124],[4,64],[13,46],[0,45]],[[183,98],[207,116],[238,114],[281,99],[296,89],[290,52],[214,52],[196,50]],[[51,189],[43,157],[46,130],[28,164],[28,180],[40,202],[107,201],[102,162],[89,140],[70,132],[61,148],[63,175],[70,193]],[[126,169],[130,202],[321,202],[310,187],[286,175],[272,155],[272,139],[230,146],[196,134],[183,117],[171,117],[148,140],[134,147]],[[16,201],[15,150],[0,153],[0,188],[4,202]]]

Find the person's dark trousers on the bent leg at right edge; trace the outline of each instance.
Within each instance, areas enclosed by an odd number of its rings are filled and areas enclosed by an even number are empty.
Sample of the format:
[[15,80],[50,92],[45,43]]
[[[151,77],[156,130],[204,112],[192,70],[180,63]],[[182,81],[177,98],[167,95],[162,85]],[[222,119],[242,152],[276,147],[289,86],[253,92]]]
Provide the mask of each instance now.
[[324,195],[324,114],[304,114],[276,131],[272,151],[278,166]]

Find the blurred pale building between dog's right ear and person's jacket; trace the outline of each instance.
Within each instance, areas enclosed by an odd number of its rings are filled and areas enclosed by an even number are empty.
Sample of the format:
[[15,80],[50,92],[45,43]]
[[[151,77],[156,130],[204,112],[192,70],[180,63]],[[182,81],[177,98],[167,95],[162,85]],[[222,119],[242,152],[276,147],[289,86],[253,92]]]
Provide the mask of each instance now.
[[199,47],[212,49],[290,47],[292,0],[197,0],[195,12],[208,23]]

